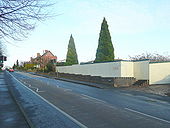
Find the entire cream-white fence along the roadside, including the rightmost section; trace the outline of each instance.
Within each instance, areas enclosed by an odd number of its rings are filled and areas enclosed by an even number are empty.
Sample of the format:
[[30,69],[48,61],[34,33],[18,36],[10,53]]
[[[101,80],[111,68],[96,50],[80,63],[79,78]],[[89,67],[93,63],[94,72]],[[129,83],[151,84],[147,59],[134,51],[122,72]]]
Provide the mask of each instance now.
[[58,72],[101,77],[134,77],[149,80],[149,84],[170,84],[170,62],[119,61],[73,66],[58,66]]

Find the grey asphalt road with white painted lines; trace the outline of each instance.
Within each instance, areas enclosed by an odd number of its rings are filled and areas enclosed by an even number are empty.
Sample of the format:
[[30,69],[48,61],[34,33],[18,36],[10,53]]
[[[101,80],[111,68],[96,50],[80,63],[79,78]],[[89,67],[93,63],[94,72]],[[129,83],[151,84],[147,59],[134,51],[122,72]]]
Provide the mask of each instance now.
[[169,97],[99,89],[22,72],[6,76],[35,127],[170,127]]

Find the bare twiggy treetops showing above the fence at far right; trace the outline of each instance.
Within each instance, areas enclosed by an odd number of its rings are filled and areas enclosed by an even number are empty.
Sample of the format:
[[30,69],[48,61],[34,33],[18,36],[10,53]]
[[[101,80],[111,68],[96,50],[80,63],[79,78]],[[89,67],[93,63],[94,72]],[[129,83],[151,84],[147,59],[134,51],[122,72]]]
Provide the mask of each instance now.
[[170,55],[160,55],[158,53],[142,53],[141,55],[129,56],[130,60],[149,59],[150,62],[170,61]]

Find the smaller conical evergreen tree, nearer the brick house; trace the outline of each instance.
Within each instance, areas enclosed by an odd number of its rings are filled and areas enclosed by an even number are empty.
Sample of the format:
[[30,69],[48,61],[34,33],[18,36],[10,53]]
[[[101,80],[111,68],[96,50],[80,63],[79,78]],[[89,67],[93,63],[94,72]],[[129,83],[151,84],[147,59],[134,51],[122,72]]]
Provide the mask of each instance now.
[[78,64],[77,52],[75,48],[74,38],[72,35],[70,36],[70,40],[68,44],[66,64],[68,65]]

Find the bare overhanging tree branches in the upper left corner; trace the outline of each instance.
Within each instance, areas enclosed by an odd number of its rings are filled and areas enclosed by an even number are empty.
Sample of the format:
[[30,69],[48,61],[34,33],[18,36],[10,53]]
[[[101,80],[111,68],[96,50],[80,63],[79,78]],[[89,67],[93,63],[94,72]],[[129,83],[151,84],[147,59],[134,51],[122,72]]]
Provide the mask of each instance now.
[[48,0],[0,0],[0,39],[21,40],[48,16]]

